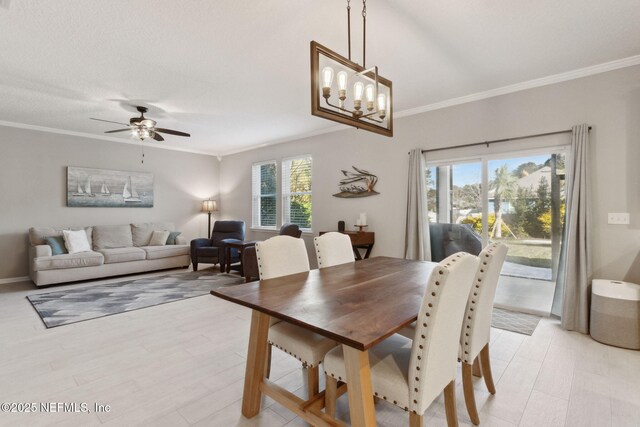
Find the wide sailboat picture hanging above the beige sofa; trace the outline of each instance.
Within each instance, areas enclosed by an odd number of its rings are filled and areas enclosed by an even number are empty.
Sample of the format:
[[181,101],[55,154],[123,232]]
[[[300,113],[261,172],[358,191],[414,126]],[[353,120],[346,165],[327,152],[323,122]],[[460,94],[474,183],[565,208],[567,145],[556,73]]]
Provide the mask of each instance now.
[[152,208],[153,174],[68,166],[67,206]]

